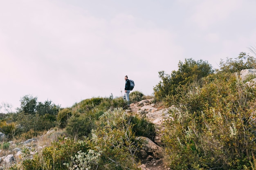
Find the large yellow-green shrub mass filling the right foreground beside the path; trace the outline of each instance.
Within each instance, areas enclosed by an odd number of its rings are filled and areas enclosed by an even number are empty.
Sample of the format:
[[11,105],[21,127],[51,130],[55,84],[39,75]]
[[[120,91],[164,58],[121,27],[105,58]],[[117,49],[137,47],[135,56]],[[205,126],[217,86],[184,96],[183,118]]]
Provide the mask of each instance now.
[[256,89],[235,75],[216,74],[182,93],[162,138],[173,169],[243,169],[255,161]]

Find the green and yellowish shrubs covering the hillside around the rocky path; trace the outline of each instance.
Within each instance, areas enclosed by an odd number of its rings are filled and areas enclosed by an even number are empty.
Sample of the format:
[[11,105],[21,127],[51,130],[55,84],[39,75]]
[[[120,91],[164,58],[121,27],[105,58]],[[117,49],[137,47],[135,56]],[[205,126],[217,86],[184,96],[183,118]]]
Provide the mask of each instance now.
[[[254,57],[240,53],[221,60],[220,69],[185,59],[170,75],[159,72],[153,101],[173,106],[160,130],[167,168],[256,170],[256,88],[246,83],[255,76],[239,77],[242,69],[255,67]],[[131,102],[146,98],[139,91],[130,93]],[[146,114],[125,113],[121,97],[84,99],[70,108],[30,95],[20,102],[17,113],[0,117],[8,139],[62,130],[52,144],[22,162],[25,170],[137,170],[146,144],[140,137],[154,141],[157,133]],[[1,144],[3,150],[9,147]]]

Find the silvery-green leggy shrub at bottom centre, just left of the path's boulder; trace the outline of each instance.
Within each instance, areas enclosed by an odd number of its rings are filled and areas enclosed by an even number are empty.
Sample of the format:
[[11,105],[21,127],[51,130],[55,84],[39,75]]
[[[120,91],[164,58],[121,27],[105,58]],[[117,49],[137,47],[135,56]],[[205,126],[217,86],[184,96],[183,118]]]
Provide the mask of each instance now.
[[138,169],[136,155],[145,141],[137,138],[132,126],[122,109],[109,110],[99,117],[91,139],[94,150],[101,152],[99,170]]

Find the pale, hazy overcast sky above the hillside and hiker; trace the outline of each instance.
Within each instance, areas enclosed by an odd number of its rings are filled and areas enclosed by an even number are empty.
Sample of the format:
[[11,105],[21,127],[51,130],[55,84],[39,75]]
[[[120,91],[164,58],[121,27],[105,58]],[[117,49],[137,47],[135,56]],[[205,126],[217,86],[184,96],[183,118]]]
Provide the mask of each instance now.
[[158,72],[170,74],[179,61],[219,68],[221,59],[250,55],[255,7],[255,0],[0,0],[0,106],[14,111],[25,95],[62,108],[121,97],[125,75],[133,91],[153,95]]

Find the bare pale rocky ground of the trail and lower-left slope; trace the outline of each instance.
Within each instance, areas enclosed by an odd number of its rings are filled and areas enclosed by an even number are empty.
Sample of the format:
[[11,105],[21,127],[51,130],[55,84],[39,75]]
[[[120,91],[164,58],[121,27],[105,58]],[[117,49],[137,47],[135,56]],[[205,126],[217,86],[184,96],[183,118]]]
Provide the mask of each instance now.
[[[164,149],[160,147],[160,130],[163,127],[163,121],[168,117],[168,108],[157,108],[152,103],[153,99],[145,99],[130,105],[130,110],[124,110],[127,114],[146,115],[157,127],[157,136],[155,143],[146,137],[142,137],[148,141],[144,150],[140,152],[141,170],[168,170],[163,163]],[[57,140],[63,131],[52,129],[45,135],[38,138],[29,139],[26,141],[9,141],[8,150],[0,150],[0,170],[8,169],[8,167],[17,165],[20,166],[22,160],[33,158],[36,152],[40,152],[46,146],[49,146],[52,141]]]

